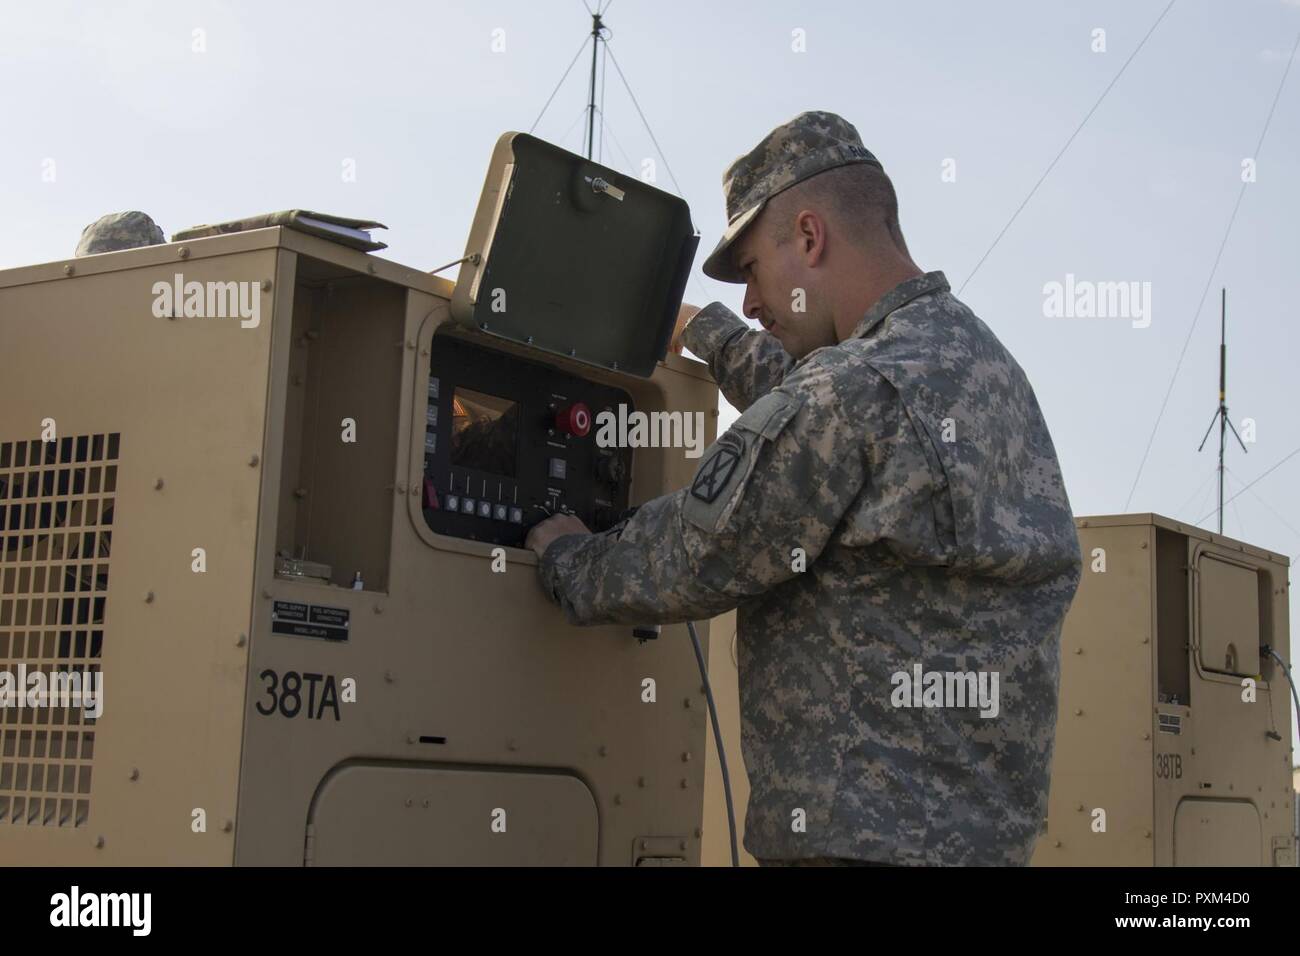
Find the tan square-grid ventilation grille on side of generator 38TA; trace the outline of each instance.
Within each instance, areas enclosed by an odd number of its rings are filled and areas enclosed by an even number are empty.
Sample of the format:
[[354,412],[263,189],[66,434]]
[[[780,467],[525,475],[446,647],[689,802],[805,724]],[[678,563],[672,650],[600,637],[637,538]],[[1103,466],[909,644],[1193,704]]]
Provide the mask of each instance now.
[[94,710],[29,706],[18,682],[100,672],[117,451],[117,434],[0,442],[0,827],[90,816]]

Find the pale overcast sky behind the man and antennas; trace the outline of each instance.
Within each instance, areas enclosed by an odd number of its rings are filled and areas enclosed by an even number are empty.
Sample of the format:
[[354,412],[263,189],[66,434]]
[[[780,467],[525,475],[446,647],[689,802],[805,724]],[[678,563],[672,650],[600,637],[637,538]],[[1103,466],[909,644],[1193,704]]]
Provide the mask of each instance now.
[[[611,64],[603,159],[630,173],[654,159],[677,191],[671,165],[702,234],[688,298],[738,310],[741,289],[698,268],[724,225],[723,169],[801,111],[844,114],[893,177],[918,264],[963,287],[1027,371],[1075,514],[1213,528],[1217,433],[1196,446],[1223,285],[1231,418],[1254,423],[1249,454],[1230,450],[1230,493],[1300,449],[1300,70],[1258,147],[1300,0],[1169,7],[612,0],[608,47],[663,153]],[[390,226],[387,258],[456,259],[493,143],[533,125],[589,30],[582,0],[8,3],[0,268],[69,256],[84,225],[127,208],[169,235],[294,207],[365,216]],[[537,127],[575,151],[588,69]],[[1067,274],[1149,284],[1149,312],[1045,315],[1044,287]],[[1297,484],[1300,455],[1228,505],[1226,533],[1300,555]]]

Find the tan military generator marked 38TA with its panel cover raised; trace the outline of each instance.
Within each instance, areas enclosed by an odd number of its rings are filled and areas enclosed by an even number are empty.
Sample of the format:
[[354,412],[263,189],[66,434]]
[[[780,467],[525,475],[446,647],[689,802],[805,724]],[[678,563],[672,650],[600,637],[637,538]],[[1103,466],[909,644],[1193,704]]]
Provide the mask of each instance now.
[[698,864],[685,627],[571,627],[523,548],[689,483],[594,424],[712,441],[696,242],[504,137],[456,286],[281,226],[0,272],[0,671],[103,680],[0,710],[0,862]]

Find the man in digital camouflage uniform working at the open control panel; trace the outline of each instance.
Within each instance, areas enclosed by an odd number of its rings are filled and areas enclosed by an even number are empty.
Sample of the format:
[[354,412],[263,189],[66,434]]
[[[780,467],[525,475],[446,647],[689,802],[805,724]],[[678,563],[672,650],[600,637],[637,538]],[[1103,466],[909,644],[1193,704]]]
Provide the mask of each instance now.
[[[744,282],[763,330],[716,302],[679,328],[742,414],[625,523],[533,528],[543,588],[578,624],[737,609],[762,862],[1023,865],[1082,568],[1034,389],[911,260],[841,117],[772,130],[723,189],[705,273]],[[992,708],[963,700],[976,683]]]

